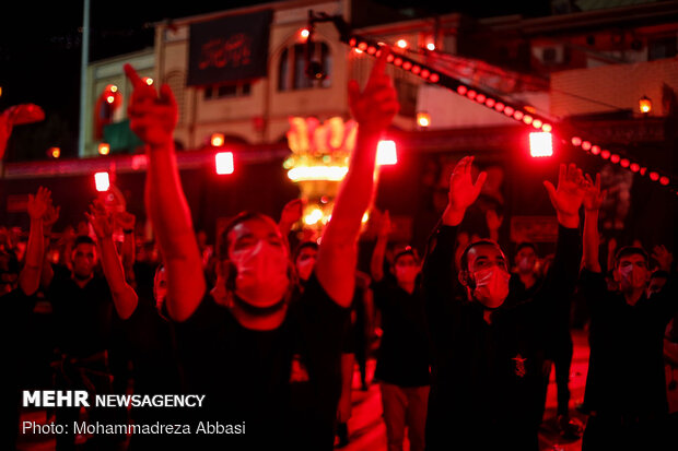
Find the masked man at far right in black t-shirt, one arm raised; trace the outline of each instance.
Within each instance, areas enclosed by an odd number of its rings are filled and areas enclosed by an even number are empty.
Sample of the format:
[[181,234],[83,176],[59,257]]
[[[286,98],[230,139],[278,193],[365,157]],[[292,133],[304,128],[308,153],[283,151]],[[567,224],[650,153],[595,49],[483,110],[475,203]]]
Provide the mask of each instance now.
[[630,246],[615,256],[612,274],[619,289],[607,288],[598,260],[598,211],[604,197],[598,176],[585,199],[581,287],[591,311],[584,400],[591,413],[582,449],[667,449],[663,448],[670,442],[666,441],[663,339],[678,310],[676,281],[671,277],[647,296],[648,256]]

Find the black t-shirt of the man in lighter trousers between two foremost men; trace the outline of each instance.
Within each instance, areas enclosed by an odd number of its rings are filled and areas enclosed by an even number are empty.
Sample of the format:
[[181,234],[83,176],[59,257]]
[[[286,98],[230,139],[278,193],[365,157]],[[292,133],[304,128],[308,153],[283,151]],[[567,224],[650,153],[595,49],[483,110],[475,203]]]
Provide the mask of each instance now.
[[424,301],[417,284],[412,294],[384,277],[372,284],[374,304],[382,312],[382,336],[374,377],[400,387],[431,383],[431,355]]

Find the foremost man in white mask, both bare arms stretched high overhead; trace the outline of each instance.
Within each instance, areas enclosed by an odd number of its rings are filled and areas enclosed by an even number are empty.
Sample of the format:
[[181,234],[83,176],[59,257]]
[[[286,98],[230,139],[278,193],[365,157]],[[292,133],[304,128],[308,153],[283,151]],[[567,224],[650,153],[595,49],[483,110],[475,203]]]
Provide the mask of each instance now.
[[[399,108],[385,74],[388,48],[379,52],[365,90],[349,84],[349,104],[359,123],[356,144],[314,271],[295,301],[290,301],[293,265],[288,246],[278,224],[260,213],[242,213],[226,226],[219,250],[224,286],[206,293],[174,153],[174,95],[167,85],[159,94],[125,67],[135,88],[130,128],[148,144],[147,210],[167,272],[167,311],[176,327],[186,390],[207,395],[195,419],[245,424],[239,435],[194,435],[191,446],[332,449],[356,239],[372,197],[376,146]],[[296,395],[300,385],[306,395]]]

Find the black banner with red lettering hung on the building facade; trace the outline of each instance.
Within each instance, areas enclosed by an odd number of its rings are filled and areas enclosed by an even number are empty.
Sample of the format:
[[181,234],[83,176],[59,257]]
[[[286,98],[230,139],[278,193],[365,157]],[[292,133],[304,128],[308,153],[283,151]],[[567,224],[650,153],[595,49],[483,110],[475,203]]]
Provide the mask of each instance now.
[[266,76],[272,10],[190,26],[188,85]]

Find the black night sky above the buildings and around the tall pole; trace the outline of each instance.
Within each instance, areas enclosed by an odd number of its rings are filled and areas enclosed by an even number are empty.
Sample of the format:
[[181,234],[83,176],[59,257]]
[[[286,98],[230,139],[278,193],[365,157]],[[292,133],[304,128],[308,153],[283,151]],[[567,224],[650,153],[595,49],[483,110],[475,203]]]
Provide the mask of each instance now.
[[[546,15],[548,0],[488,8],[477,2],[379,0],[393,8],[419,15],[460,11],[472,16],[523,13]],[[184,17],[264,1],[186,2],[91,1],[90,61],[140,50],[153,45],[153,22]],[[80,61],[82,1],[26,2],[12,4],[12,13],[0,17],[0,110],[35,103],[46,112],[40,123],[17,127],[10,140],[5,161],[46,158],[50,145],[61,147],[62,157],[77,155],[80,107]],[[417,8],[412,8],[417,4]],[[9,8],[4,5],[5,10]]]

